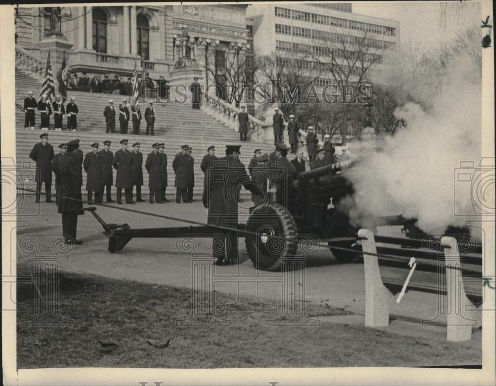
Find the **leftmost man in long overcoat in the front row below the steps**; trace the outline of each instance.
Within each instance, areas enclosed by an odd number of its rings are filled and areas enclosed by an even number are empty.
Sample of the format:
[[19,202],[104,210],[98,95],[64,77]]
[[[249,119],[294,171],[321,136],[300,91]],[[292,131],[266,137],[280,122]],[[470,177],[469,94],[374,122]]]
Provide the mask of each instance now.
[[36,202],[40,202],[41,184],[45,184],[45,198],[47,202],[52,201],[52,160],[54,148],[48,143],[48,133],[40,135],[41,142],[33,146],[29,158],[36,162]]

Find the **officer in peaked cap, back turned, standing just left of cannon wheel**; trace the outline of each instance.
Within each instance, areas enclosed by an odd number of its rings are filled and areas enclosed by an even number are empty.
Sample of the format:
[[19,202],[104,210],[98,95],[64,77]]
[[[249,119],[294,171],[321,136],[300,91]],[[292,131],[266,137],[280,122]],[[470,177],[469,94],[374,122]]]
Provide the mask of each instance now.
[[[261,194],[250,181],[245,165],[239,160],[241,145],[226,145],[226,157],[213,161],[208,169],[208,183],[203,195],[208,208],[208,224],[222,226],[221,235],[213,238],[216,265],[234,264],[238,259],[238,193],[243,185]],[[218,229],[218,228],[217,228]],[[227,242],[229,240],[230,242]]]

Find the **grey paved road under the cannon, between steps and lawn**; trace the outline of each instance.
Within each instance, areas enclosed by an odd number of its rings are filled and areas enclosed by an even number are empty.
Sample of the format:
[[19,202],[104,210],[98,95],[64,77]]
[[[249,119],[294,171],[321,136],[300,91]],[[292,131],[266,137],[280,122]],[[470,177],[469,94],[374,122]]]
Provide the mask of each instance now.
[[[246,213],[250,203],[244,202],[240,206],[241,210]],[[190,221],[205,221],[207,214],[200,202],[163,205],[140,203],[115,205],[115,207]],[[29,251],[26,253],[25,247],[22,246],[27,238],[34,237],[40,240],[42,250],[39,254],[53,254],[53,243],[60,237],[62,227],[55,204],[41,203],[38,207],[34,204],[33,197],[25,197],[21,215],[30,215],[38,211],[38,216],[18,217],[17,237],[20,244],[17,251],[20,262],[33,260],[33,254]],[[187,225],[185,222],[164,220],[113,208],[99,207],[97,213],[106,222],[127,222],[132,228]],[[243,219],[246,221],[246,216],[240,217],[240,221]],[[25,226],[22,226],[23,221],[27,221]],[[147,283],[191,287],[191,254],[184,253],[184,249],[182,253],[183,247],[179,246],[176,239],[134,239],[124,247],[123,251],[112,254],[107,251],[108,241],[101,233],[102,230],[101,225],[91,214],[80,216],[78,238],[83,241],[83,245],[76,246],[68,254],[61,255],[60,269]],[[379,232],[391,235],[401,234],[399,227],[384,227],[379,229]],[[211,256],[209,239],[196,239],[194,243],[194,258]],[[262,302],[280,304],[281,276],[255,270],[242,239],[240,239],[240,252],[242,263],[239,266],[215,267],[215,289],[240,296],[258,296]],[[302,284],[299,290],[303,289],[304,284],[305,300],[316,303],[323,301],[330,306],[346,308],[354,313],[365,313],[363,265],[339,264],[329,250],[324,248],[308,256],[306,265],[307,268],[300,274],[303,276],[295,278]],[[301,299],[303,300],[303,295]],[[400,304],[392,304],[391,314],[407,318],[433,319],[437,316],[437,309],[437,296],[409,292]]]

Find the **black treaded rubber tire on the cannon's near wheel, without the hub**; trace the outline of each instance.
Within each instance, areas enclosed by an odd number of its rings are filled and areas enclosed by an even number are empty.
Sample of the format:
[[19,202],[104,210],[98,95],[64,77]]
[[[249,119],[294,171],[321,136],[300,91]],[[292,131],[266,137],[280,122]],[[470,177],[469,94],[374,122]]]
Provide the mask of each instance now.
[[[270,255],[264,253],[265,248],[258,247],[257,243],[261,242],[259,233],[260,224],[265,222],[276,222],[273,233],[280,237],[284,242],[282,252]],[[245,235],[245,245],[248,256],[253,266],[263,271],[280,271],[282,260],[296,255],[298,249],[297,226],[293,216],[282,205],[272,203],[265,205],[253,212],[247,222],[247,233]]]

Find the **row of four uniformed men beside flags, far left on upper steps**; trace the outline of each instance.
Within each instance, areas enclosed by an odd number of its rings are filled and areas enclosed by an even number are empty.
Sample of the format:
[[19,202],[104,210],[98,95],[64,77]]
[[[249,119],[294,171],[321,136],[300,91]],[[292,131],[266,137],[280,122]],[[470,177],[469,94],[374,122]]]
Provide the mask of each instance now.
[[[40,111],[40,128],[48,130],[50,127],[50,116],[54,115],[54,129],[57,131],[62,130],[62,121],[64,115],[67,116],[67,130],[75,131],[77,128],[77,105],[75,98],[70,98],[70,102],[64,106],[61,96],[57,95],[55,101],[50,105],[47,101],[47,96],[43,95],[39,101],[33,98],[33,92],[29,91],[26,98],[24,98],[24,128],[34,130],[36,110]],[[52,110],[53,107],[53,110]]]

